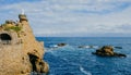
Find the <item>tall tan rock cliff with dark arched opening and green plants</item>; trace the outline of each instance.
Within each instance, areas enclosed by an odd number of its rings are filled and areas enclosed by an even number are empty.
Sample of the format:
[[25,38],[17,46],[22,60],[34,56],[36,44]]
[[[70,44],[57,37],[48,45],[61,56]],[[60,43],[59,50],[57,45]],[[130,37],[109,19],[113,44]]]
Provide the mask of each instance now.
[[7,21],[0,26],[0,75],[29,75],[48,73],[43,60],[44,42],[35,39],[25,14],[20,22]]

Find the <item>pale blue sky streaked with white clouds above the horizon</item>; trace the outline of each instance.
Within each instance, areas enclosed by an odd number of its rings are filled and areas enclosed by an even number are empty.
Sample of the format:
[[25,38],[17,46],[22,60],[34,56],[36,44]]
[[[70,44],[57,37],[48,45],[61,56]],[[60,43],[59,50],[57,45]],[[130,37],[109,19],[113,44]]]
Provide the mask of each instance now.
[[131,37],[131,0],[0,0],[0,24],[22,9],[35,36]]

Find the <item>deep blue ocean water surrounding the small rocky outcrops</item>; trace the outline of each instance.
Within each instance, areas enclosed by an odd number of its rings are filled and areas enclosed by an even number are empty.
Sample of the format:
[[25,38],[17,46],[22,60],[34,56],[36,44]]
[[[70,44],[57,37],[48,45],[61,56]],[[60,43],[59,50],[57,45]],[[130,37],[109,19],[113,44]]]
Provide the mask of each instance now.
[[[49,63],[49,75],[131,75],[131,38],[80,38],[80,37],[37,37],[45,42],[44,60]],[[56,47],[57,43],[68,43]],[[92,54],[96,48],[79,46],[116,46],[116,52],[127,58],[104,58]]]

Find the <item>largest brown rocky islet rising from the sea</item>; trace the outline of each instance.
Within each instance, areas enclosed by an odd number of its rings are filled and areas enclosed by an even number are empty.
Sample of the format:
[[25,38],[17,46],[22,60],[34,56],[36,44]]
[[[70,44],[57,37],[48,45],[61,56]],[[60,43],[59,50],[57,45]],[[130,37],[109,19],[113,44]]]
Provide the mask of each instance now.
[[93,54],[100,55],[100,57],[127,57],[122,53],[114,52],[114,48],[111,46],[104,46],[93,52]]

